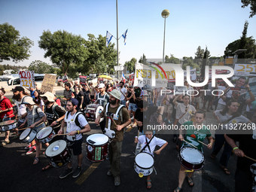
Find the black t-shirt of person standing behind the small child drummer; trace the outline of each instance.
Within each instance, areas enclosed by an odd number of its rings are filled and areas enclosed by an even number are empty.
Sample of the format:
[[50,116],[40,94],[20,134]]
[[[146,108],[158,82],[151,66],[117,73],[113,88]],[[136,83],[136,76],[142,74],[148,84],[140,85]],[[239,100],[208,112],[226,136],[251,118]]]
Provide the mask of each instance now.
[[148,107],[147,111],[142,112],[140,108],[137,108],[135,112],[135,119],[138,121],[142,121],[142,126],[138,126],[139,132],[142,132],[143,126],[147,126],[149,122],[149,117],[151,117],[151,114],[154,114],[154,112],[157,111],[158,107]]

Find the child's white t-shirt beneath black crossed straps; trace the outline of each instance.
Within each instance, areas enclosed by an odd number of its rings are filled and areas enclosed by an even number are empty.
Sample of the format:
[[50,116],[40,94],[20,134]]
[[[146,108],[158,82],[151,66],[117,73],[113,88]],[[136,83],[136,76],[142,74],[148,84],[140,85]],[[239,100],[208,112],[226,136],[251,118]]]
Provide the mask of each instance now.
[[[145,135],[139,136],[139,138],[138,138],[139,142],[142,144],[142,149],[145,147],[145,145],[147,145],[146,139],[148,142],[150,141],[150,139],[148,139]],[[165,140],[154,136],[151,143],[149,144],[149,148],[151,148],[151,151],[149,151],[148,147],[146,147],[145,150],[142,152],[151,154],[154,157],[154,149],[156,148],[156,146],[162,147],[163,144],[165,144],[165,143],[166,143]]]

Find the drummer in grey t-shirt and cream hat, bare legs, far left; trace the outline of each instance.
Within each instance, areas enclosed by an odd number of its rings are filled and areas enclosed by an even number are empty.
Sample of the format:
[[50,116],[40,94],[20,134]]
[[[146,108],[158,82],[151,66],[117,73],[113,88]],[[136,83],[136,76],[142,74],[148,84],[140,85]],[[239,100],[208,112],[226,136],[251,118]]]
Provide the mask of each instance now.
[[[20,125],[20,127],[25,126],[27,123],[30,129],[35,130],[38,132],[38,129],[41,129],[45,126],[44,124],[44,117],[45,114],[43,111],[41,111],[41,108],[35,105],[35,102],[33,101],[32,97],[27,96],[23,99],[22,104],[26,105],[26,120]],[[36,154],[34,158],[33,165],[36,165],[39,163],[39,154],[41,151],[41,142],[38,142],[37,139],[35,139],[35,148],[36,148]]]

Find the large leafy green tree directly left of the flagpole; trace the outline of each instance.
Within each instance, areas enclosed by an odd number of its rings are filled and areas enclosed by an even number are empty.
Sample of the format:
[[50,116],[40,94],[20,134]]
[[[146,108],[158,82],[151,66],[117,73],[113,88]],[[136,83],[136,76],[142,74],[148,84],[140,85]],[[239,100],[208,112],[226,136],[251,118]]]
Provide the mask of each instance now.
[[85,41],[89,54],[88,58],[84,61],[83,69],[81,72],[87,73],[93,68],[93,72],[104,73],[114,68],[117,59],[117,50],[114,50],[114,44],[105,46],[106,38],[99,35],[96,38],[93,34],[88,34],[88,40]]

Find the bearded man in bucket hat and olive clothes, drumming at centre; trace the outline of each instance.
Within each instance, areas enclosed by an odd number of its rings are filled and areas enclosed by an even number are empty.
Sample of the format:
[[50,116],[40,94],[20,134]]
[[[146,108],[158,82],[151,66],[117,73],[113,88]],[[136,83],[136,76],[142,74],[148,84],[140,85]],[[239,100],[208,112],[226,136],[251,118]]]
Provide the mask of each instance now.
[[[108,157],[111,164],[111,169],[108,170],[107,175],[113,175],[114,185],[118,186],[120,185],[120,157],[123,144],[123,130],[126,126],[130,125],[131,119],[125,106],[119,108],[121,97],[120,91],[112,90],[111,92],[108,92],[108,94],[110,95],[109,104],[105,105],[103,111],[96,118],[95,123],[99,124],[100,118],[105,117],[105,124],[110,125],[108,128],[115,132],[115,137],[108,147]],[[106,110],[108,110],[108,113],[114,114],[114,117],[111,118],[115,123],[113,123],[113,121],[108,118],[108,115],[105,113]],[[109,120],[111,120],[111,122],[108,123]],[[117,124],[117,126],[115,126],[115,124]]]

